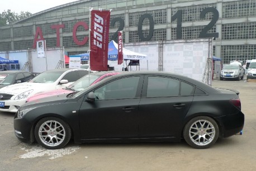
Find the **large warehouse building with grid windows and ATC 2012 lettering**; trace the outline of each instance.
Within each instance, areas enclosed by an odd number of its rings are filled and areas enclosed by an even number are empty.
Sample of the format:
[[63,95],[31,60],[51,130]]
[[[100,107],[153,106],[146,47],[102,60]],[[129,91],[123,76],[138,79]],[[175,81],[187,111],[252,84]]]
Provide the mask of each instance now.
[[256,58],[256,0],[82,0],[50,8],[0,27],[0,51],[64,47],[86,53],[89,7],[111,11],[110,40],[125,43],[214,37],[213,54],[223,64]]

